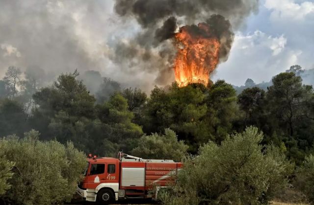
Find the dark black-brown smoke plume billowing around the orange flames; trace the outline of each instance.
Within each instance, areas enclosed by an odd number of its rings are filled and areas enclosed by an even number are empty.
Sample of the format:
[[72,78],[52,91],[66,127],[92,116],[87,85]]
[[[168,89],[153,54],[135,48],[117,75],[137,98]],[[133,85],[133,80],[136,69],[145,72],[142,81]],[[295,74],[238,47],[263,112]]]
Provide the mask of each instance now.
[[166,40],[172,39],[179,27],[209,24],[212,35],[221,43],[220,61],[225,61],[233,43],[233,30],[257,12],[258,5],[259,0],[116,0],[116,13],[126,20],[135,18],[141,30],[128,43],[120,42],[111,58],[130,70],[158,70],[156,83],[169,83],[173,81],[169,73],[175,49]]

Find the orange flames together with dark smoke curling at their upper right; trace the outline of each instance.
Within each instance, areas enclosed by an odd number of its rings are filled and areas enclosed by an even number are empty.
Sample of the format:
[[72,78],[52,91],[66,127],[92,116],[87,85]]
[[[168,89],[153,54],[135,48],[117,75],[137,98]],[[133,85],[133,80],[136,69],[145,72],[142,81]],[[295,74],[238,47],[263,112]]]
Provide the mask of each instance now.
[[182,87],[189,83],[208,84],[218,63],[228,57],[234,34],[228,20],[212,15],[207,23],[185,25],[174,36],[177,47],[174,72]]

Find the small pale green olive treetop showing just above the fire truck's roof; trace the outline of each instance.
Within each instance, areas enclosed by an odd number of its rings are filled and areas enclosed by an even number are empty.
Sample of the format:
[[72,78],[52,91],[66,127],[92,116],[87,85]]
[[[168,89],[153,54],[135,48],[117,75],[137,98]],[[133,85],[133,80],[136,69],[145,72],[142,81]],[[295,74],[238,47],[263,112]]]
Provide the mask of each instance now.
[[187,155],[188,146],[178,141],[176,133],[165,129],[164,135],[157,133],[139,139],[138,146],[132,154],[144,159],[173,159],[181,161]]

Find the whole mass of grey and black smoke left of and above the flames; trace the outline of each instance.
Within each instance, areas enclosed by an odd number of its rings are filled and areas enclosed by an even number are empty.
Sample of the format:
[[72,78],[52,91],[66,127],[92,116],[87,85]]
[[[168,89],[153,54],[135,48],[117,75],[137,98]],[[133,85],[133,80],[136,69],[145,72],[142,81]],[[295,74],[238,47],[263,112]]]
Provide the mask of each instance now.
[[[174,80],[172,39],[179,27],[210,24],[210,16],[219,14],[235,30],[257,11],[258,0],[0,0],[0,5],[0,79],[15,66],[39,70],[36,77],[51,85],[55,76],[78,68],[150,91]],[[212,27],[226,41],[221,56],[228,56],[228,29]]]

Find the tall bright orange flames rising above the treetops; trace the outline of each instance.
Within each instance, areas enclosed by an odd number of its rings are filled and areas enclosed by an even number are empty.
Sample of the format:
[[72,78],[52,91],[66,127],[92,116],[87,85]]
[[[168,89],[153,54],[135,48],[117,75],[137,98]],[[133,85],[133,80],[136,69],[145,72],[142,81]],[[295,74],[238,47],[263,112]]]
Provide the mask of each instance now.
[[180,87],[189,83],[208,84],[210,73],[219,62],[220,42],[207,23],[183,26],[175,34],[177,56],[175,78]]

